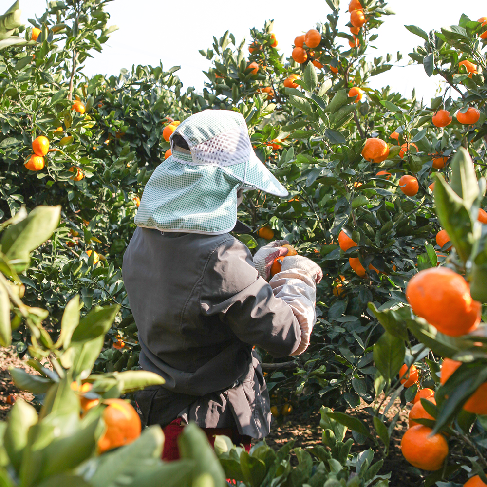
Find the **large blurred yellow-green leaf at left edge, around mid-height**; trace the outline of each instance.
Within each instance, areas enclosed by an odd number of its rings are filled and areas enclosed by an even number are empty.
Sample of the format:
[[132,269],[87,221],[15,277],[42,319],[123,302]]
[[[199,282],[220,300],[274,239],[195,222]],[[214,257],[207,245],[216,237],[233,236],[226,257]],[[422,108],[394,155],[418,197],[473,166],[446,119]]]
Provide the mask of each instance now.
[[30,253],[48,240],[59,224],[61,206],[37,206],[27,218],[10,225],[0,240],[1,251],[17,268],[24,269]]

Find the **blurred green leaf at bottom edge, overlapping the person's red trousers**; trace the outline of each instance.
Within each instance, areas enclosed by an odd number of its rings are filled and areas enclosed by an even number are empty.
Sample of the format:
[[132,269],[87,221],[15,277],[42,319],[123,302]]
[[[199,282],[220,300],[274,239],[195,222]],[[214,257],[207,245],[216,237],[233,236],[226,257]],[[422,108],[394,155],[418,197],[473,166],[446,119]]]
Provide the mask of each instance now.
[[206,434],[195,423],[189,423],[178,438],[181,458],[196,462],[193,479],[203,473],[213,477],[215,487],[225,486],[225,472],[220,465],[215,452],[211,449]]

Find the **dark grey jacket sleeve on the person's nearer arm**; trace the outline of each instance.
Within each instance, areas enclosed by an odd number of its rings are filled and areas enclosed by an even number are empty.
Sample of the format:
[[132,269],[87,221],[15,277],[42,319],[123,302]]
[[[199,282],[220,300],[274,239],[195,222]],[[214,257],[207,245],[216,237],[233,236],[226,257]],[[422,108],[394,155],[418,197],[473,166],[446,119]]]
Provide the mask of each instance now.
[[276,357],[298,349],[301,329],[293,309],[259,277],[242,242],[231,237],[211,253],[200,289],[203,315],[218,315],[243,342]]

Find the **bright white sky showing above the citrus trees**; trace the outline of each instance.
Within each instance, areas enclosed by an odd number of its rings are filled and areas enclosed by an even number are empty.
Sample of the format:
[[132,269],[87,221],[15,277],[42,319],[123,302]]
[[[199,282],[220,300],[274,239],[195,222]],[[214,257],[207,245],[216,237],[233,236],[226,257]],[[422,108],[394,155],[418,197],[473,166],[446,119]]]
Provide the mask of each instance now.
[[[2,2],[5,4],[5,2]],[[7,1],[9,4],[11,1]],[[349,32],[344,24],[350,19],[348,0],[341,0],[340,16],[342,30]],[[40,15],[44,11],[43,0],[19,0],[22,21]],[[487,16],[487,6],[480,0],[391,0],[389,7],[396,15],[383,17],[385,23],[375,32],[379,37],[372,42],[377,49],[370,49],[373,56],[385,56],[400,51],[405,65],[410,59],[409,52],[418,44],[420,37],[412,35],[404,25],[417,25],[426,32],[446,25],[456,25],[462,13],[470,19]],[[215,6],[214,6],[215,5]],[[216,6],[218,5],[218,6]],[[440,6],[439,6],[440,5]],[[4,10],[4,9],[0,9]],[[274,19],[274,32],[279,41],[278,48],[287,56],[291,54],[294,38],[315,27],[317,21],[326,21],[330,9],[325,1],[304,2],[301,6],[296,0],[279,2],[202,2],[186,0],[115,0],[108,3],[106,10],[111,14],[109,25],[117,25],[118,31],[112,33],[104,45],[102,54],[95,51],[94,58],[86,61],[85,72],[118,74],[120,68],[130,69],[132,64],[158,65],[161,60],[164,69],[180,65],[179,75],[184,86],[194,86],[202,91],[209,61],[198,52],[211,47],[213,36],[219,38],[228,29],[234,34],[237,43],[250,38],[249,29],[261,29],[266,19]],[[344,39],[343,39],[344,40]],[[247,42],[248,43],[248,42]],[[438,76],[428,78],[422,66],[393,67],[391,71],[374,76],[369,86],[379,88],[390,85],[393,91],[406,97],[416,88],[416,96],[425,101],[434,96],[438,88]]]

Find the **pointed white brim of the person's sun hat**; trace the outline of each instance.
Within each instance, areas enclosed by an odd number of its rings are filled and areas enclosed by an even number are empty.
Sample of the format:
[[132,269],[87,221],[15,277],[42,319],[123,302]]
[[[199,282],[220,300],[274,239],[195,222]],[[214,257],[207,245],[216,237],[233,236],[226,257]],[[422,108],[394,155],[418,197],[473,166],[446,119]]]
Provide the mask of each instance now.
[[264,163],[255,155],[252,150],[250,159],[246,163],[221,166],[221,168],[242,181],[242,186],[247,189],[260,189],[266,193],[284,198],[289,193],[285,187],[272,175]]

